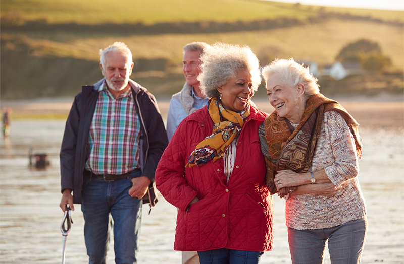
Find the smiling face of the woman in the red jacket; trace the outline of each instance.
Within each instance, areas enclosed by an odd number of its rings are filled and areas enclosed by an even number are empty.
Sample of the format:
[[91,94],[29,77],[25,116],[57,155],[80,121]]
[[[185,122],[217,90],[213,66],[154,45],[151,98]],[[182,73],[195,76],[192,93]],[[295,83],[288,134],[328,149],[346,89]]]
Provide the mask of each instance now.
[[221,102],[224,109],[235,112],[244,110],[254,95],[251,77],[252,75],[248,70],[240,70],[235,77],[230,78],[226,84],[217,88],[222,94]]

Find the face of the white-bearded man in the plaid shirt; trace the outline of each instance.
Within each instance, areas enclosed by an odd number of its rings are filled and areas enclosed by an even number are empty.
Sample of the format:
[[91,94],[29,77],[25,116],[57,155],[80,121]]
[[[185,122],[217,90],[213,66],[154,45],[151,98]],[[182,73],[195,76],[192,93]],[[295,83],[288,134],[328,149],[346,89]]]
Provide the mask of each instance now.
[[108,52],[104,57],[105,65],[100,64],[100,67],[105,77],[107,87],[113,91],[122,91],[128,88],[133,62],[128,64],[127,57],[119,52]]

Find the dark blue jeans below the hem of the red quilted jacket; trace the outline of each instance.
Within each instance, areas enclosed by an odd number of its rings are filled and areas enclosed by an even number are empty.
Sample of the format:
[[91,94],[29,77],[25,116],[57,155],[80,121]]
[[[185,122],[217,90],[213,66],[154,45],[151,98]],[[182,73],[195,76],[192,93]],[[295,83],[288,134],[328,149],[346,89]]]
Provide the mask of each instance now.
[[235,249],[198,251],[200,264],[257,264],[264,252]]

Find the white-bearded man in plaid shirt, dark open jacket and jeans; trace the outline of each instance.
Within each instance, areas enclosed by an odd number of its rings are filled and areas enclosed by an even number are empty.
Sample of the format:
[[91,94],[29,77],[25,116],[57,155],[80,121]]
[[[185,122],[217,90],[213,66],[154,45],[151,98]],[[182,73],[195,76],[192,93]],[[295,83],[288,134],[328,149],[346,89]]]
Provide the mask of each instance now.
[[116,263],[137,263],[142,204],[157,202],[155,171],[168,140],[155,97],[129,79],[129,48],[115,42],[99,53],[104,78],[83,86],[66,122],[60,207],[81,204],[89,263],[106,261],[111,216]]

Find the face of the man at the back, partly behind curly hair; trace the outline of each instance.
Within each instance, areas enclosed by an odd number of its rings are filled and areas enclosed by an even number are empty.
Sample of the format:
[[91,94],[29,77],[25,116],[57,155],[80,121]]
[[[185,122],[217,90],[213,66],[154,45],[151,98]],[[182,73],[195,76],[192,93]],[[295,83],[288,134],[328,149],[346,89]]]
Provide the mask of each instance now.
[[197,88],[199,87],[199,81],[196,77],[198,77],[201,72],[200,64],[202,64],[199,57],[199,51],[185,51],[182,58],[182,70],[184,72],[186,83]]

